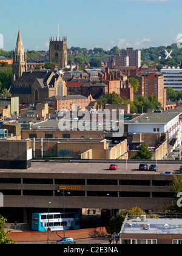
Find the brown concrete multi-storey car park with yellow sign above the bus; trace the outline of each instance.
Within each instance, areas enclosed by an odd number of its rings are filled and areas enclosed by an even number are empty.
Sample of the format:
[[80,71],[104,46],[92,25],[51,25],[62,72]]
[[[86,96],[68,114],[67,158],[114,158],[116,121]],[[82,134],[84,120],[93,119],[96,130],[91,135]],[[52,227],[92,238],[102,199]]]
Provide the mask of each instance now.
[[[0,192],[4,195],[2,216],[8,222],[29,222],[33,212],[61,211],[63,196],[60,186],[76,186],[79,190],[65,193],[65,208],[79,211],[132,207],[160,211],[168,207],[174,194],[169,190],[173,171],[178,175],[179,163],[158,163],[158,171],[138,171],[139,163],[116,161],[117,170],[109,170],[109,161],[32,162],[29,169],[1,169]],[[114,205],[113,205],[114,201]],[[98,212],[98,211],[97,211]]]

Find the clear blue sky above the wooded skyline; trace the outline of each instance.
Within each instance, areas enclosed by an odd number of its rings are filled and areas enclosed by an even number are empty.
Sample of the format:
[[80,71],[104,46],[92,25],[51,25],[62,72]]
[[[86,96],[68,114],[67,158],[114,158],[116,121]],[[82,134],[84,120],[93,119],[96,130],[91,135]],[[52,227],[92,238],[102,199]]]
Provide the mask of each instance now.
[[180,0],[5,0],[0,48],[15,49],[20,29],[26,51],[47,51],[58,24],[68,48],[168,46],[182,34],[181,7]]

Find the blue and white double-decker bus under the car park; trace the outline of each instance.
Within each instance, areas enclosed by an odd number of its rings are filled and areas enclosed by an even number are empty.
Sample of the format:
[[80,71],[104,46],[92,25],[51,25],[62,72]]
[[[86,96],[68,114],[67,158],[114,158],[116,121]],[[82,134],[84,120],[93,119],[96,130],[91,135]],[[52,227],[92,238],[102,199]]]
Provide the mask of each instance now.
[[49,231],[79,229],[79,213],[32,214],[32,230],[47,231],[48,228]]

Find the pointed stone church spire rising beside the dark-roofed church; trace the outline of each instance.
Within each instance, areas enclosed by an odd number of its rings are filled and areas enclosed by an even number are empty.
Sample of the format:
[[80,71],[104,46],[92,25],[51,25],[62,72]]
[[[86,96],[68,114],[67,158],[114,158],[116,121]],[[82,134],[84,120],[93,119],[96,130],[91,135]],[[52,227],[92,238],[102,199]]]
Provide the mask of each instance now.
[[16,48],[15,51],[13,51],[12,82],[21,77],[23,72],[27,72],[27,54],[24,52],[24,46],[19,30]]

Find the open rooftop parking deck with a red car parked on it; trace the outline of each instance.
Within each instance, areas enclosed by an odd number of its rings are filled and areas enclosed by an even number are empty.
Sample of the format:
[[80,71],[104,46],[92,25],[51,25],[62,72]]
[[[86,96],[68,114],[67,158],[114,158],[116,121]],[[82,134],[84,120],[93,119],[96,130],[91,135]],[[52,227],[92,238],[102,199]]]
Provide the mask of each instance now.
[[[68,159],[69,160],[69,159]],[[49,160],[50,162],[41,161],[32,161],[32,167],[29,169],[0,169],[1,172],[25,172],[25,173],[45,173],[45,174],[113,174],[113,179],[117,174],[142,174],[142,179],[145,179],[144,176],[147,175],[156,175],[161,176],[161,180],[169,179],[173,177],[172,175],[161,174],[165,171],[172,171],[174,174],[177,174],[180,168],[179,163],[158,163],[158,171],[139,171],[138,167],[140,163],[116,163],[118,169],[109,170],[111,163],[115,163],[115,160],[103,160],[89,162],[59,162],[55,160]],[[150,165],[150,164],[148,164]],[[126,168],[127,167],[127,168]],[[167,178],[168,177],[168,178]]]

